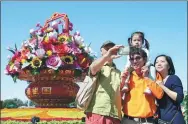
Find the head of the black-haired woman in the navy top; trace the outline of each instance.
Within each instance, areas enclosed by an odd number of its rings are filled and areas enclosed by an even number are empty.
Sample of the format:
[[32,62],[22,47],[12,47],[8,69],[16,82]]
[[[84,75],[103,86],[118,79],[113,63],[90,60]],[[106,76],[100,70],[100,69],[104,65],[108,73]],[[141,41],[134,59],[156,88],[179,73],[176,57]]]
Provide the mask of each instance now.
[[156,70],[164,75],[174,75],[175,68],[170,56],[167,55],[159,55],[155,58],[154,66]]

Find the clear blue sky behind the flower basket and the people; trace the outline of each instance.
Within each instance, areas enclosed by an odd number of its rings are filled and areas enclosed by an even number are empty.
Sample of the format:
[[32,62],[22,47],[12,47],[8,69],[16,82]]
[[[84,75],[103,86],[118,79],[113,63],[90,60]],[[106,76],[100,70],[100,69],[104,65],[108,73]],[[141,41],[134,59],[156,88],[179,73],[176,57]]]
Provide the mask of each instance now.
[[[29,1],[1,3],[1,99],[27,100],[25,81],[14,83],[4,74],[11,53],[8,46],[18,47],[29,38],[29,30],[37,22],[42,25],[54,12],[66,13],[79,30],[85,43],[98,53],[105,40],[127,45],[134,31],[143,31],[150,42],[152,62],[159,54],[172,57],[176,74],[187,90],[187,3],[186,2],[65,2]],[[126,57],[115,60],[122,70]]]

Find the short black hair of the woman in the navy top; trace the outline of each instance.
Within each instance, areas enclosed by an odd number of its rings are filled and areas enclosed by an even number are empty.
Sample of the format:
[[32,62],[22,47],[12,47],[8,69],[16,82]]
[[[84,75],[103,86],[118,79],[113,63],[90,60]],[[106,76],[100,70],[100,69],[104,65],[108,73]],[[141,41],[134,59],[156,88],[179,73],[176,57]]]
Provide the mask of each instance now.
[[171,59],[170,56],[167,56],[167,55],[165,55],[165,54],[158,55],[158,56],[155,58],[154,66],[155,66],[155,64],[156,64],[157,58],[159,58],[159,57],[164,57],[164,58],[166,59],[166,61],[168,62],[168,65],[169,65],[169,67],[170,67],[170,68],[168,69],[168,74],[169,74],[169,75],[174,75],[174,74],[175,74],[175,68],[174,68],[174,64],[173,64],[173,61],[172,61],[172,59]]

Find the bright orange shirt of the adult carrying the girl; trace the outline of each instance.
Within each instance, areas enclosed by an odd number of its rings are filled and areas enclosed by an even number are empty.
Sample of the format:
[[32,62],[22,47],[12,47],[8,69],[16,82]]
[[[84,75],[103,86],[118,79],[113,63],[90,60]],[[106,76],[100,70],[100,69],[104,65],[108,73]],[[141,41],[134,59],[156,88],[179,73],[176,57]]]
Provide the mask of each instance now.
[[[157,80],[162,80],[157,73]],[[129,82],[129,92],[126,93],[123,112],[125,115],[138,118],[147,118],[156,112],[155,98],[161,99],[163,90],[150,79],[139,77],[135,71],[132,72]],[[151,95],[145,95],[144,90],[149,87]]]

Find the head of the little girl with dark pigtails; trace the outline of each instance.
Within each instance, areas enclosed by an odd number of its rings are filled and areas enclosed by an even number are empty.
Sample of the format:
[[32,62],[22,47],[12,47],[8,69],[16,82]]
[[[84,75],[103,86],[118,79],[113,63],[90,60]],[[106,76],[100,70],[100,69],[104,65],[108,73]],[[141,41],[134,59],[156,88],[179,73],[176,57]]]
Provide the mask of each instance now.
[[144,33],[140,31],[131,34],[131,37],[128,38],[128,44],[137,48],[145,47],[149,50],[149,42],[145,39]]

